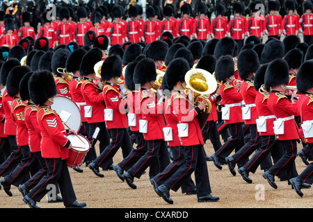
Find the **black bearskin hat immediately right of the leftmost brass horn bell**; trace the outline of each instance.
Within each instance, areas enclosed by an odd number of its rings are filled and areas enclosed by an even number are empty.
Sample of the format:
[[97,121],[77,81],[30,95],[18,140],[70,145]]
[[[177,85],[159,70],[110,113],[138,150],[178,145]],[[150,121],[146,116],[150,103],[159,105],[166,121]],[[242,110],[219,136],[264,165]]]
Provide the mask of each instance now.
[[101,68],[102,80],[109,80],[110,78],[120,78],[122,75],[122,60],[120,56],[107,57]]

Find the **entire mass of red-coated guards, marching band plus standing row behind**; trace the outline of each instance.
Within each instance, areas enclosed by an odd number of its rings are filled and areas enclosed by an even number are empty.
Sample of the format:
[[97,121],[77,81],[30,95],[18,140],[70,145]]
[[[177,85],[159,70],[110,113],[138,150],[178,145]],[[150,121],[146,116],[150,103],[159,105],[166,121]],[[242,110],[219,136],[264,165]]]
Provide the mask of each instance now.
[[[211,161],[218,169],[226,164],[233,176],[237,166],[248,183],[249,173],[260,167],[271,187],[278,189],[276,176],[302,197],[301,189],[313,182],[308,162],[313,157],[308,54],[313,4],[305,1],[299,17],[294,0],[287,0],[282,18],[271,0],[269,15],[259,19],[256,3],[249,19],[242,4],[234,3],[229,22],[225,6],[217,3],[211,23],[204,3],[195,18],[184,3],[180,19],[167,5],[163,21],[156,19],[157,7],[147,7],[144,21],[141,6],[129,6],[125,21],[115,6],[111,23],[106,6],[91,13],[91,21],[86,8],[79,8],[77,23],[72,10],[63,7],[58,21],[42,14],[37,38],[29,13],[22,15],[18,32],[10,15],[0,16],[5,26],[0,188],[13,196],[14,185],[24,203],[38,208],[47,186],[58,185],[49,203],[86,207],[77,201],[69,171],[83,173],[80,167],[86,164],[99,178],[104,177],[100,169],[113,169],[131,189],[149,170],[152,189],[169,204],[174,203],[170,191],[179,188],[200,203],[216,202]],[[214,153],[207,155],[209,142]],[[119,148],[123,160],[116,164]],[[307,164],[300,174],[297,156]]]

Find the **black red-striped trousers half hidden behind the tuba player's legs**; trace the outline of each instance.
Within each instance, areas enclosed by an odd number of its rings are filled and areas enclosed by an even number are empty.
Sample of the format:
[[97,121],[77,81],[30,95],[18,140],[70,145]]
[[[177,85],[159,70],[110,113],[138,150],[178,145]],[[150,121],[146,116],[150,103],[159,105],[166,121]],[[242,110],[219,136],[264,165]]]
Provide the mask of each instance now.
[[[185,153],[184,148],[182,146],[170,146],[172,151],[173,160],[168,164],[168,167],[164,169],[161,173],[158,173],[157,176],[154,176],[154,181],[157,182],[158,185],[163,185],[166,180],[168,180],[178,169],[182,167],[185,163]],[[182,193],[186,193],[187,191],[193,191],[195,189],[195,183],[191,179],[191,176],[188,176],[184,179],[184,183],[182,184]]]

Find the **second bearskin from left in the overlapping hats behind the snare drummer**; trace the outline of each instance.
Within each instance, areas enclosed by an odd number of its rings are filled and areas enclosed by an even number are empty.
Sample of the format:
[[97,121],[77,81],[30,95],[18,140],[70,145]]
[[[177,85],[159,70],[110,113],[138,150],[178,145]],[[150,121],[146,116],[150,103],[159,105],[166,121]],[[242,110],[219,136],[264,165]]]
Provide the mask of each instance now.
[[9,96],[13,97],[19,93],[19,82],[29,71],[31,71],[31,68],[26,65],[18,65],[10,70],[6,79],[6,92]]

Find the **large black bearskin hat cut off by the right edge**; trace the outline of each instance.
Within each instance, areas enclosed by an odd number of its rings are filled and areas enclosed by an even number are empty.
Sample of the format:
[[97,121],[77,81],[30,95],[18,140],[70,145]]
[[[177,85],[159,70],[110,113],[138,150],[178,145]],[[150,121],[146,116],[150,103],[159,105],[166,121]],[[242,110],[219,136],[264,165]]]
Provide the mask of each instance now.
[[313,88],[313,61],[308,60],[303,62],[303,64],[300,66],[300,69],[297,73],[296,78],[296,86],[298,92],[305,94],[307,92],[307,89]]

